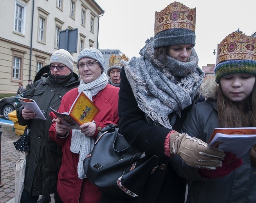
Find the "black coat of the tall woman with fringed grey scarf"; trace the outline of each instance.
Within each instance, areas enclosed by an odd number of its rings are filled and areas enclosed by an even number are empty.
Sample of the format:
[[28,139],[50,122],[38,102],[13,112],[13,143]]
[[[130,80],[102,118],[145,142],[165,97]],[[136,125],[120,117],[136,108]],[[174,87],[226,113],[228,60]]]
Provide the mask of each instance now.
[[[154,126],[146,121],[145,113],[138,107],[124,68],[121,69],[120,76],[118,105],[120,132],[130,144],[134,144],[148,154],[157,155],[160,162],[148,180],[144,192],[138,198],[114,199],[103,193],[101,203],[184,203],[186,180],[178,176],[169,165],[170,159],[164,155],[165,139],[171,130]],[[177,117],[173,129],[180,131],[189,109],[182,111],[181,118]],[[170,120],[171,116],[169,115]]]

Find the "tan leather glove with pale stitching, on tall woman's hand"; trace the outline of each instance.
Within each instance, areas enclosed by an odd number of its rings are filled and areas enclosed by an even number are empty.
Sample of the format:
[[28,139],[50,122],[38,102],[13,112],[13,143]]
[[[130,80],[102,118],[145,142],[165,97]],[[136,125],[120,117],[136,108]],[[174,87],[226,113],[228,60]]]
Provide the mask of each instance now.
[[170,135],[170,153],[180,156],[189,166],[209,170],[221,166],[224,157],[222,150],[207,147],[202,140],[181,133]]

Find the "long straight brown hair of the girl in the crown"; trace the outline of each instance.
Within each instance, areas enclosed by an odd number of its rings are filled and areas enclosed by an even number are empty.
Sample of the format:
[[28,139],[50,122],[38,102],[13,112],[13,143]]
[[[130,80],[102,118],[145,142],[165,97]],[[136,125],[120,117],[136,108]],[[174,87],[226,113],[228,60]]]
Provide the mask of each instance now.
[[[229,100],[222,92],[221,84],[218,87],[218,122],[220,128],[245,128],[256,127],[256,83],[251,95],[245,99],[243,107],[238,107],[236,102]],[[256,166],[256,145],[251,149],[251,162]]]

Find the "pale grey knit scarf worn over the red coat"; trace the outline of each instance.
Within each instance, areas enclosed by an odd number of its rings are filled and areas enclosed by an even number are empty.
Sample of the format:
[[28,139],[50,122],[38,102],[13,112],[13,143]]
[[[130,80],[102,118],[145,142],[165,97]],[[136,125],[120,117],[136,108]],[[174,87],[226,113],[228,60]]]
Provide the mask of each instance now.
[[[80,85],[78,87],[78,92],[85,93],[85,95],[92,101],[92,97],[99,93],[99,91],[103,90],[108,83],[108,78],[106,74],[103,72],[96,80],[85,83],[83,79],[80,81]],[[94,146],[94,137],[86,136],[81,133],[81,130],[73,129],[72,137],[71,137],[71,145],[70,151],[73,153],[79,154],[78,161],[78,178],[83,179],[87,176],[85,175],[85,171],[83,169],[83,160],[89,154]]]

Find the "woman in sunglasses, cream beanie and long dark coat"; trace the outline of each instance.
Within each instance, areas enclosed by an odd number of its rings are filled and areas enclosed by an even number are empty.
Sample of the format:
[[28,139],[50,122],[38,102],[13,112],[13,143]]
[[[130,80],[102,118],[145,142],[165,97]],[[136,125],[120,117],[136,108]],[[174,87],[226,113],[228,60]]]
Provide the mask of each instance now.
[[21,203],[50,202],[49,194],[54,193],[55,202],[62,202],[56,187],[58,171],[61,165],[61,147],[49,138],[49,128],[52,119],[49,116],[50,107],[58,109],[62,97],[69,90],[79,85],[79,78],[74,70],[71,54],[64,49],[56,50],[50,57],[50,72],[47,77],[33,83],[25,94],[26,98],[36,101],[46,120],[33,119],[35,113],[23,106],[17,110],[20,125],[28,125],[31,129],[30,147],[27,155],[24,189]]

